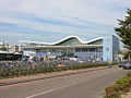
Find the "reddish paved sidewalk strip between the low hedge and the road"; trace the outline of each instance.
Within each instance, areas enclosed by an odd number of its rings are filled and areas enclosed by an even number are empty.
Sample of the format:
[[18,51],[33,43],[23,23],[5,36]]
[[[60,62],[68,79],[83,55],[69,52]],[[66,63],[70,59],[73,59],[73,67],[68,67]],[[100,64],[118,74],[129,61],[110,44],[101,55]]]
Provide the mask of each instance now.
[[22,77],[15,77],[15,78],[5,78],[5,79],[0,79],[0,86],[38,81],[38,79],[53,78],[53,77],[72,75],[72,74],[80,74],[80,73],[98,71],[98,70],[104,70],[104,69],[108,69],[108,66],[99,66],[99,68],[92,68],[92,69],[85,69],[85,70],[69,70],[69,71],[63,71],[63,72],[53,72],[53,73],[22,76]]

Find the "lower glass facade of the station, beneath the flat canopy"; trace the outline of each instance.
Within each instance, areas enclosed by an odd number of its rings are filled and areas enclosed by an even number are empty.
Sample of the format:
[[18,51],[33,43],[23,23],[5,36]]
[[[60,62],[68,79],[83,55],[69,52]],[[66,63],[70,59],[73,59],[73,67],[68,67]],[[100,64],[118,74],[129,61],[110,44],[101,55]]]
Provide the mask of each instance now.
[[[25,49],[26,50],[26,49]],[[78,57],[82,60],[88,60],[88,59],[99,59],[103,58],[103,48],[64,48],[64,49],[29,49],[36,54],[43,54],[47,56],[49,52],[49,56],[67,56],[67,57]]]

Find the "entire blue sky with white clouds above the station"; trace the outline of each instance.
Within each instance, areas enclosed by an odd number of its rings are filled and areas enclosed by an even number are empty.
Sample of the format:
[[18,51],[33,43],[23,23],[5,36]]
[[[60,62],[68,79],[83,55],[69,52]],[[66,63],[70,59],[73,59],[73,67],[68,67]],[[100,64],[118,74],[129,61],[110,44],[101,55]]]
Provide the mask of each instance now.
[[116,35],[130,0],[0,0],[0,41],[57,41]]

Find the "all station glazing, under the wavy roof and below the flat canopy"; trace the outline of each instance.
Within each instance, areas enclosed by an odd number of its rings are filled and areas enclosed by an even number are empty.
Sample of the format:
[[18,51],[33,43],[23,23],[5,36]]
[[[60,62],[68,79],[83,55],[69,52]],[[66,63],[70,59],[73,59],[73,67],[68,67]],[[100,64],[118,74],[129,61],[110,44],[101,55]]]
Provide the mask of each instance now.
[[[91,45],[90,48],[86,48],[86,47],[80,47],[80,48],[71,48],[69,46],[86,46],[86,45]],[[83,59],[83,60],[87,60],[87,59],[100,59],[103,58],[103,47],[100,48],[92,48],[93,45],[103,45],[103,39],[98,39],[98,40],[95,40],[95,41],[92,41],[92,42],[87,42],[87,44],[82,44],[78,38],[75,37],[72,37],[72,38],[69,38],[69,39],[66,39],[63,41],[60,41],[56,45],[52,45],[52,46],[49,46],[49,49],[48,49],[48,45],[44,45],[44,44],[29,44],[29,46],[34,46],[34,47],[39,47],[41,46],[40,49],[37,49],[35,48],[34,50],[32,51],[35,51],[36,54],[43,54],[43,56],[46,56],[49,54],[50,56],[74,56],[74,57],[78,57],[80,59]],[[44,46],[47,46],[47,47],[44,47]],[[55,48],[56,46],[61,46],[62,48]],[[68,46],[69,48],[67,48],[66,46]],[[50,48],[52,47],[52,48]],[[26,50],[26,49],[25,49]],[[29,50],[29,49],[28,49]]]

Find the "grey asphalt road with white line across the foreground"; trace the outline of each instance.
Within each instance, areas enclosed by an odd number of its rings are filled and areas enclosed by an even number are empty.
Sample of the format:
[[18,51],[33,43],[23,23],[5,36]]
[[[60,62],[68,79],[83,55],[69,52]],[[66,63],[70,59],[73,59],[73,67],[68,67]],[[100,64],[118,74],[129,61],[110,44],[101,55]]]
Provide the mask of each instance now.
[[100,98],[130,70],[112,68],[0,87],[0,98]]

